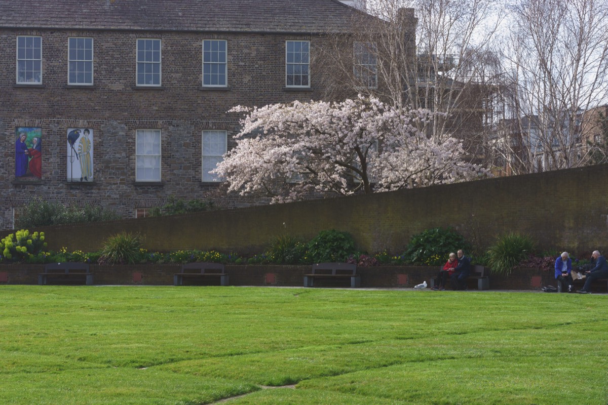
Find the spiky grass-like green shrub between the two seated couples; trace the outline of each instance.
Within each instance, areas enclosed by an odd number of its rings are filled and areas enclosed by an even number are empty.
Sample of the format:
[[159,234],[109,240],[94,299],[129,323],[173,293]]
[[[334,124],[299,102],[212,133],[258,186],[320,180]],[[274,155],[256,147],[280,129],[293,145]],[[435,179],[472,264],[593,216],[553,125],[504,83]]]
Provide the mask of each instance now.
[[508,276],[513,268],[533,253],[533,249],[534,242],[528,235],[506,233],[497,237],[496,243],[488,250],[490,271]]

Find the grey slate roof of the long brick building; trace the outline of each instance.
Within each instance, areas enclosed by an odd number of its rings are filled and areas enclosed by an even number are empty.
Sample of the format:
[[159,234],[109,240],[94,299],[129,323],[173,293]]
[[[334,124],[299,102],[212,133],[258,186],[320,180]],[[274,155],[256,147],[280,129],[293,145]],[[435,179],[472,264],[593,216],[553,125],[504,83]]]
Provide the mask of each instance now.
[[0,0],[0,27],[323,33],[353,13],[337,0]]

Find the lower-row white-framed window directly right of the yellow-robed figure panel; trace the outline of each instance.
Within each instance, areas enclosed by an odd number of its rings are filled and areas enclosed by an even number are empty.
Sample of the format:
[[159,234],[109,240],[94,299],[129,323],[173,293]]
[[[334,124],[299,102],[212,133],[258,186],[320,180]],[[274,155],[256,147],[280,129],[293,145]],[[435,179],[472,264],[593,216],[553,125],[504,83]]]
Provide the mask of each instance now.
[[161,181],[161,130],[138,129],[135,146],[136,182]]

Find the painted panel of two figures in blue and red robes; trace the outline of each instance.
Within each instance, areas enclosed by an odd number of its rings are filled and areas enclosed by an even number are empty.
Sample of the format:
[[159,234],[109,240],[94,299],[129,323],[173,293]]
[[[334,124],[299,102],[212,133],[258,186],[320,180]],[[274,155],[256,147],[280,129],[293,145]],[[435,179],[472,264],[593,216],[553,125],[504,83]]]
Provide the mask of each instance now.
[[15,129],[15,177],[42,179],[42,128]]

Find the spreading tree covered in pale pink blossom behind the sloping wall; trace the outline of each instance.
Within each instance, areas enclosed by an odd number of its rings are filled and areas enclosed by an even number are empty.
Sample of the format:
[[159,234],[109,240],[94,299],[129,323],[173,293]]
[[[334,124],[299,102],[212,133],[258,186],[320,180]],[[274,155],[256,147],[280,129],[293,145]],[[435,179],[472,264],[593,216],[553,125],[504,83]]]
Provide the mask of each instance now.
[[463,161],[460,141],[428,138],[417,128],[434,117],[359,95],[340,103],[311,101],[237,106],[244,112],[237,146],[213,171],[229,191],[272,202],[311,194],[366,194],[472,180],[485,171]]

